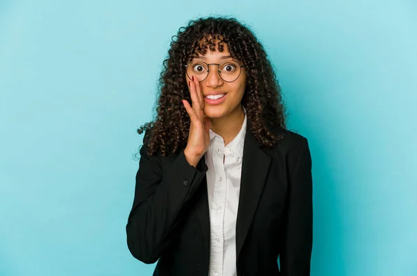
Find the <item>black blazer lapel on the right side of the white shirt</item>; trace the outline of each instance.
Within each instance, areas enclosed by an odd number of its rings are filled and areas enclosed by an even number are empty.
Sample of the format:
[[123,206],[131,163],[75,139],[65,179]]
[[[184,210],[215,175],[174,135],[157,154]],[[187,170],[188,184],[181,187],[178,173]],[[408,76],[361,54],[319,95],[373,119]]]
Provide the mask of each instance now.
[[252,224],[259,199],[268,175],[271,158],[261,149],[261,144],[249,130],[243,146],[242,174],[238,216],[236,218],[236,262]]

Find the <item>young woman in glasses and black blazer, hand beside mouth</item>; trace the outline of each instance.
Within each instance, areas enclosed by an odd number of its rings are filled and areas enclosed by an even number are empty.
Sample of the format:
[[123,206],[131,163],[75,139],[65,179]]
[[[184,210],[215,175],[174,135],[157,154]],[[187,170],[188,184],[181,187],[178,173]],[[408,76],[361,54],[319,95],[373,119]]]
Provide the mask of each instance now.
[[131,254],[158,261],[158,276],[309,275],[309,145],[286,130],[263,46],[208,17],[180,28],[168,55],[156,119],[138,130]]

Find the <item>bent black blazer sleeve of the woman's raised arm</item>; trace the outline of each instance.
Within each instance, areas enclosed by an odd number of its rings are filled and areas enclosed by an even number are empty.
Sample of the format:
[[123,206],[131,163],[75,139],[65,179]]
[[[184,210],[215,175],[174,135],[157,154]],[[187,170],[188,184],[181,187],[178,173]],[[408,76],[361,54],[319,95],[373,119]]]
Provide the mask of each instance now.
[[161,158],[149,155],[146,145],[147,133],[140,148],[139,169],[133,206],[126,225],[129,251],[145,264],[156,262],[161,252],[170,244],[173,230],[186,209],[186,202],[199,187],[207,166],[191,166],[183,150],[170,169],[162,170]]

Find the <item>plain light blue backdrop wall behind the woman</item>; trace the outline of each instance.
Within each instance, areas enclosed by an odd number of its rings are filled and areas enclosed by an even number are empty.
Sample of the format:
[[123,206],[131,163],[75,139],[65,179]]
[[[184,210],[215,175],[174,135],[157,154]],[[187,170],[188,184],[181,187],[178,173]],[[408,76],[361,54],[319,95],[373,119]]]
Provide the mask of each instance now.
[[416,1],[0,1],[0,275],[152,275],[126,247],[172,35],[234,15],[309,138],[314,276],[417,275]]

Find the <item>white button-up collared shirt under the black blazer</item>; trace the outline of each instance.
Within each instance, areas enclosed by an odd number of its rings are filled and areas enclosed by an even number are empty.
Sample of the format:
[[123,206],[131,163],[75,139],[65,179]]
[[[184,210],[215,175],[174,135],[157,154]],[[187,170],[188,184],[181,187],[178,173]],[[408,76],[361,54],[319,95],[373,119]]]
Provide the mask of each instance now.
[[[210,276],[236,275],[236,217],[240,193],[245,120],[238,135],[227,145],[210,130],[210,146],[205,153],[208,171],[207,192],[210,213]],[[224,164],[223,164],[224,157]]]

